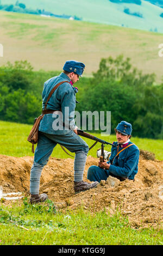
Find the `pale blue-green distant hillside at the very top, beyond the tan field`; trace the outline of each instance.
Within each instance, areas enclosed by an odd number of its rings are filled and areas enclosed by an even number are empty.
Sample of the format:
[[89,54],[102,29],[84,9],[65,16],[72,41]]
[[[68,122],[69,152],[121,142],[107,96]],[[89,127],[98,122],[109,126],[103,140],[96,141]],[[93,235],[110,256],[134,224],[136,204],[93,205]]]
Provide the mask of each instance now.
[[[139,1],[141,4],[136,4]],[[155,0],[20,0],[27,8],[45,9],[54,14],[77,15],[83,21],[163,33],[161,1]],[[16,0],[2,0],[15,4]],[[128,10],[128,11],[125,11]]]

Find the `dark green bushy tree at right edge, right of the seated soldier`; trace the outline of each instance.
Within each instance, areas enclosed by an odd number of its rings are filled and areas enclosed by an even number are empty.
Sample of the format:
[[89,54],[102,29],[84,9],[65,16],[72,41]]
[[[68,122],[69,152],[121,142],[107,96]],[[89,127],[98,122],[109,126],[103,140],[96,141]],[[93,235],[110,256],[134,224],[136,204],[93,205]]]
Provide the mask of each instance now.
[[137,118],[135,133],[139,137],[163,138],[163,85],[147,87],[134,106]]

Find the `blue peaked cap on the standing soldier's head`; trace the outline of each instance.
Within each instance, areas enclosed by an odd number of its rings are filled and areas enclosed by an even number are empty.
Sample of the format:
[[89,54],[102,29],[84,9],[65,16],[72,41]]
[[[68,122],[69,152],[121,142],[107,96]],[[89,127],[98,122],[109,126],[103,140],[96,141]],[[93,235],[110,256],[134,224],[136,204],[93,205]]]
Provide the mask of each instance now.
[[82,62],[76,62],[76,60],[67,60],[67,62],[65,62],[63,70],[67,72],[74,72],[74,74],[82,77],[84,68],[85,65]]

